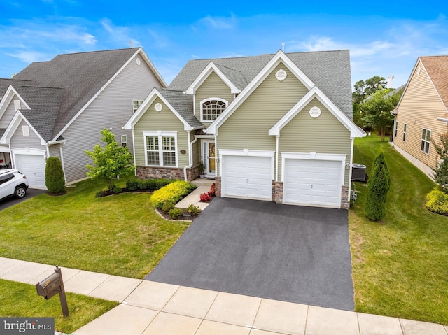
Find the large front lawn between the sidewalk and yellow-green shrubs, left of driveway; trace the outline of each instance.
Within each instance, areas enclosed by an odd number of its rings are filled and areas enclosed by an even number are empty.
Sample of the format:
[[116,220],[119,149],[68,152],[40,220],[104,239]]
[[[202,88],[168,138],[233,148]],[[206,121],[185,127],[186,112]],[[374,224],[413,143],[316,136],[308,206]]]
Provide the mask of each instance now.
[[189,222],[160,218],[149,193],[96,198],[104,188],[85,180],[63,196],[41,194],[0,211],[0,257],[144,278]]

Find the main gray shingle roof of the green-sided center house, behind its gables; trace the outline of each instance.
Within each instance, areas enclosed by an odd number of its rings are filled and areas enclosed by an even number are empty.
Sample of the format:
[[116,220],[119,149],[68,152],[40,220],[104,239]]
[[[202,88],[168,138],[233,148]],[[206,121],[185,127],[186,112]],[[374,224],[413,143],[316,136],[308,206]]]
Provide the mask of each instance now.
[[[292,52],[286,55],[341,111],[350,118],[353,117],[349,50]],[[187,90],[209,62],[214,62],[218,69],[223,71],[225,76],[228,76],[229,80],[242,90],[255,78],[272,57],[274,57],[274,54],[255,57],[190,60],[168,88],[172,90]]]

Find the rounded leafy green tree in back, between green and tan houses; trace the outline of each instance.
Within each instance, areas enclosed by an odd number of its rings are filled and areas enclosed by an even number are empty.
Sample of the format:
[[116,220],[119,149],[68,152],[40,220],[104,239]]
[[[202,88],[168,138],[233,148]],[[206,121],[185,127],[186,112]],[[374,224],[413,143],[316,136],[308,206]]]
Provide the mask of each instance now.
[[391,111],[397,106],[401,94],[392,94],[386,97],[390,90],[378,90],[370,99],[360,105],[360,113],[363,114],[363,126],[374,128],[381,134],[384,141],[386,132],[393,128],[393,116]]

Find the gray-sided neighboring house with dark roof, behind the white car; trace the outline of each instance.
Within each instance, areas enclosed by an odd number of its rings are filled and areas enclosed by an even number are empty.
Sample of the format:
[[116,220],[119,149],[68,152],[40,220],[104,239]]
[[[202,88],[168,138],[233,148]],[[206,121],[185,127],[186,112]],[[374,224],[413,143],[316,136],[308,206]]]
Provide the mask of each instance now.
[[132,133],[121,127],[153,87],[166,87],[141,48],[58,55],[0,78],[0,164],[45,189],[45,159],[59,157],[66,182],[86,177],[85,150],[112,129],[133,150]]

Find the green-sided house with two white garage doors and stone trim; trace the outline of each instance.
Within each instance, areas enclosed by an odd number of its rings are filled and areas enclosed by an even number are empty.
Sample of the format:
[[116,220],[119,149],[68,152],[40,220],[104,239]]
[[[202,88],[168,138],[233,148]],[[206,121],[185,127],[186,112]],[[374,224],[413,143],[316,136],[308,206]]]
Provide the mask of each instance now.
[[348,50],[197,59],[154,89],[123,127],[137,176],[216,180],[216,194],[349,205],[353,140]]

